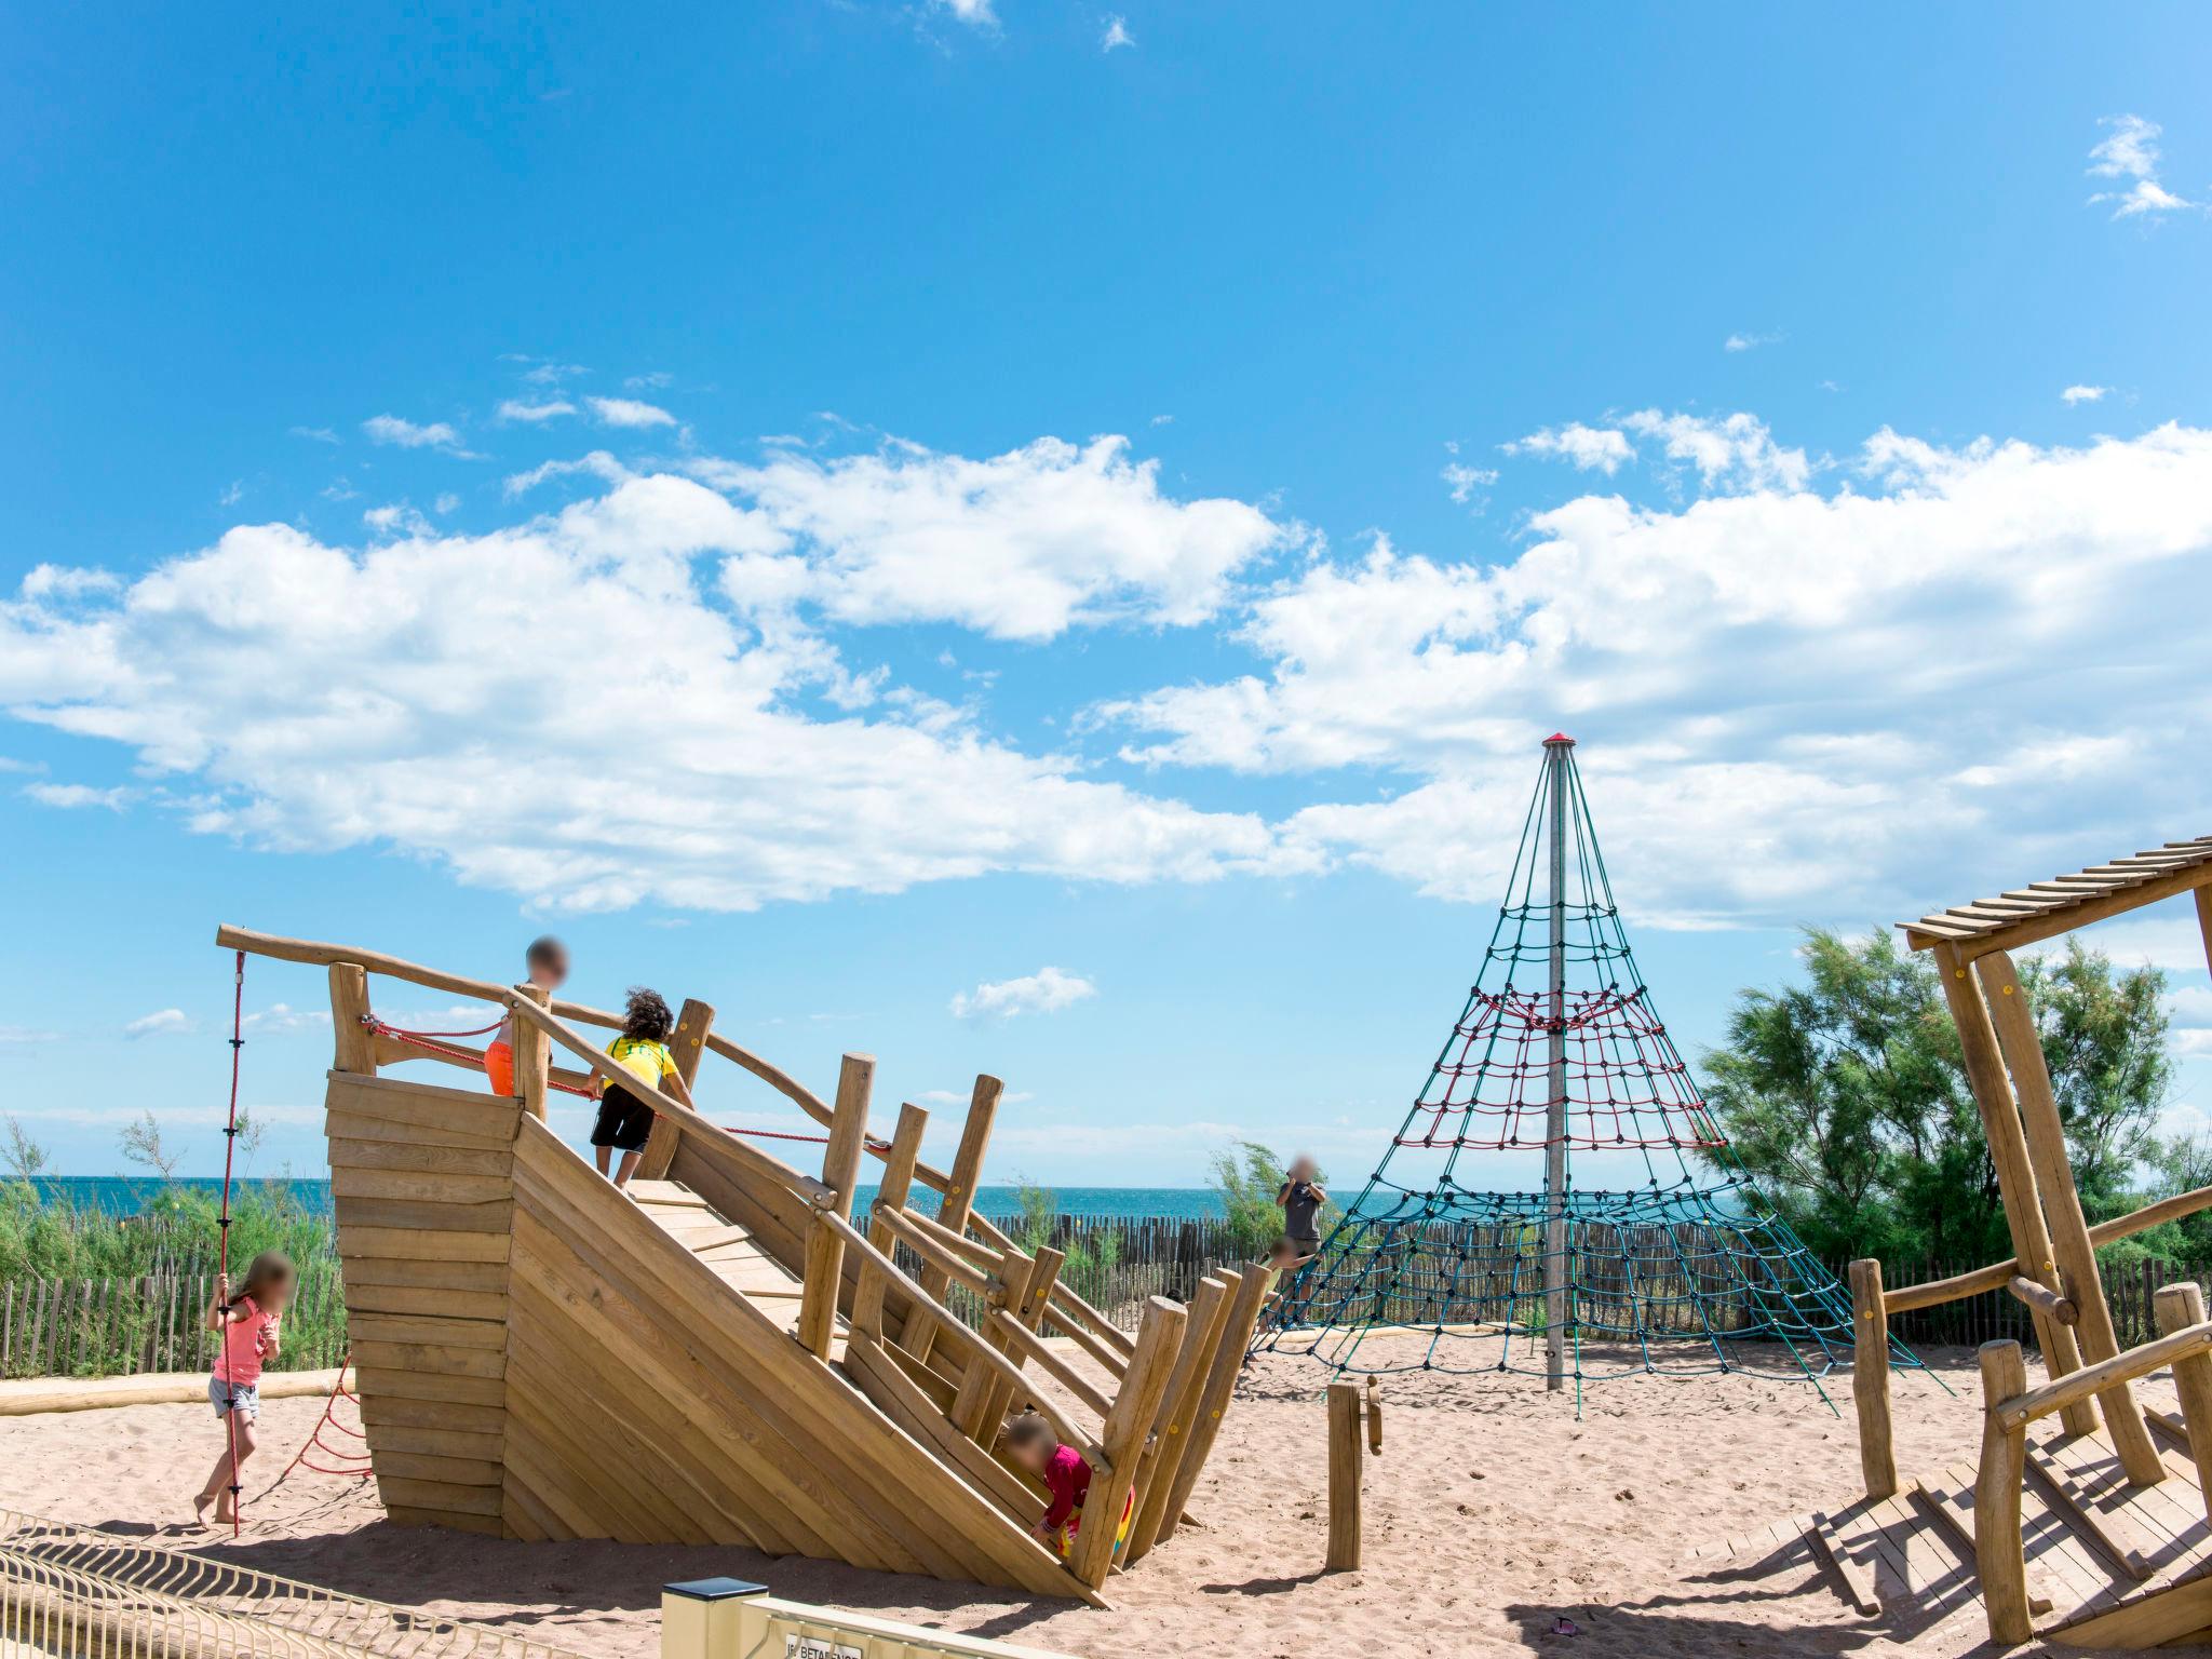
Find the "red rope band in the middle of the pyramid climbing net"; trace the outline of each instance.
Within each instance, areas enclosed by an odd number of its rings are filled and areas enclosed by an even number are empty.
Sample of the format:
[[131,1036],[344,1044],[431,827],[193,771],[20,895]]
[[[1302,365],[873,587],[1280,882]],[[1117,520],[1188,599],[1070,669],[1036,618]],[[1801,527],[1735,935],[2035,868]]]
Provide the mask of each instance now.
[[1398,1146],[1546,1146],[1555,1031],[1571,1146],[1728,1144],[1641,989],[1568,991],[1553,1022],[1548,995],[1506,987],[1469,1000],[1431,1079],[1444,1093],[1413,1108]]

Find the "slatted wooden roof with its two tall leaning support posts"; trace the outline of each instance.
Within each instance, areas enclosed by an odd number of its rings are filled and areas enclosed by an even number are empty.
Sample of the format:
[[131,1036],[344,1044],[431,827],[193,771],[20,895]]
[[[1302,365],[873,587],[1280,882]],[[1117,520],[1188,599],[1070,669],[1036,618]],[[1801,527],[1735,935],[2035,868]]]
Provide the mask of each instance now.
[[[2081,1365],[2097,1367],[2119,1356],[2112,1310],[2097,1276],[2090,1228],[2081,1214],[2066,1130],[2059,1124],[2051,1073],[2035,1033],[2013,951],[2070,933],[2088,922],[2157,905],[2181,894],[2197,896],[2197,920],[2212,964],[2212,836],[2168,841],[2163,847],[2093,865],[2070,876],[1978,898],[1933,911],[1916,922],[1898,922],[1905,942],[1933,951],[1951,1018],[1958,1022],[1966,1082],[1982,1110],[1997,1188],[2013,1237],[2022,1301],[2035,1321],[2035,1338],[2053,1380]],[[2163,1208],[2163,1206],[2154,1206]],[[2192,1206],[2194,1208],[2194,1206]],[[2161,1217],[2163,1219],[2163,1217]],[[2035,1294],[2039,1285],[2046,1296]],[[2064,1316],[2077,1314],[2077,1323]],[[2128,1480],[2152,1484],[2163,1475],[2157,1447],[2135,1409],[2121,1376],[2097,1394],[2106,1427]],[[2070,1433],[2093,1433],[2090,1400],[2068,1405]]]

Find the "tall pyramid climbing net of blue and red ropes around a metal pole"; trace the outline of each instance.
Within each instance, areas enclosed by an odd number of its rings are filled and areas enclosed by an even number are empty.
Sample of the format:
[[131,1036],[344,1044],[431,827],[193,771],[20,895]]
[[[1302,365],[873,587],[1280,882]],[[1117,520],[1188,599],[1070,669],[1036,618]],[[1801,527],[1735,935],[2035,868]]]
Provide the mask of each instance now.
[[[1378,1327],[1425,1340],[1369,1345]],[[1659,1020],[1573,739],[1544,743],[1498,927],[1427,1086],[1259,1345],[1332,1371],[1522,1371],[1577,1398],[1632,1374],[1818,1387],[1849,1363],[1849,1292],[1759,1199]]]

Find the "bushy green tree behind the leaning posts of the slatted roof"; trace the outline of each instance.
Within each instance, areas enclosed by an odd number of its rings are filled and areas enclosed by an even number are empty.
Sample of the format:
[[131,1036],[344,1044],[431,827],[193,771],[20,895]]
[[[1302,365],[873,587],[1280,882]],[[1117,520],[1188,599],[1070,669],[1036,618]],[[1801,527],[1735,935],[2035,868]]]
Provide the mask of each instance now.
[[[1936,971],[1889,933],[1812,929],[1803,980],[1736,998],[1708,1102],[1767,1199],[1820,1254],[1993,1261],[2008,1250],[1989,1141]],[[2022,969],[2090,1214],[2128,1208],[2172,1077],[2166,980],[2070,940]]]

